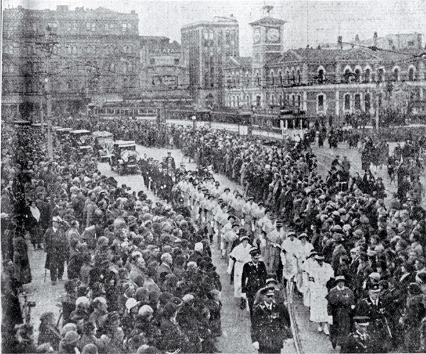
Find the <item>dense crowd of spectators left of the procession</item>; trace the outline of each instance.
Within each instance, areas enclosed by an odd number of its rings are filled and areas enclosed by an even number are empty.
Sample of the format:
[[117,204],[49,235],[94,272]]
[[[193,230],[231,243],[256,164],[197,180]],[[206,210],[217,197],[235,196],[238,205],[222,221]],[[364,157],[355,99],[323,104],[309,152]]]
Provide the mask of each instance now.
[[[41,141],[2,129],[2,352],[216,353],[221,279],[204,230],[65,140],[48,160]],[[50,286],[64,287],[59,318],[21,308],[28,252],[46,252]]]

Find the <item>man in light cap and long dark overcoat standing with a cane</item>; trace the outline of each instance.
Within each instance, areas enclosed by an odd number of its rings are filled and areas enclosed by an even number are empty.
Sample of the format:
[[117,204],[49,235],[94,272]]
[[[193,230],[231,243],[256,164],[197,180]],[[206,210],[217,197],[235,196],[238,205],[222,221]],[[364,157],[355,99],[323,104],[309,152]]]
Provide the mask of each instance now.
[[68,241],[61,222],[62,218],[54,216],[52,227],[49,227],[44,234],[44,250],[47,253],[45,268],[50,270],[52,285],[56,284],[57,279],[62,281],[64,265],[68,257]]

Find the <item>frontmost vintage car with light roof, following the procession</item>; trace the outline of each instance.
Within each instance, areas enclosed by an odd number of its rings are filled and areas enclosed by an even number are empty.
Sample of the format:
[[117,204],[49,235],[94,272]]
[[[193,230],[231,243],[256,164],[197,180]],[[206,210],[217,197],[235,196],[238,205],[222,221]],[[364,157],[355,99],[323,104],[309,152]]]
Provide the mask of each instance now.
[[134,140],[117,140],[113,145],[113,154],[109,159],[111,170],[118,174],[140,173],[139,154],[136,151]]

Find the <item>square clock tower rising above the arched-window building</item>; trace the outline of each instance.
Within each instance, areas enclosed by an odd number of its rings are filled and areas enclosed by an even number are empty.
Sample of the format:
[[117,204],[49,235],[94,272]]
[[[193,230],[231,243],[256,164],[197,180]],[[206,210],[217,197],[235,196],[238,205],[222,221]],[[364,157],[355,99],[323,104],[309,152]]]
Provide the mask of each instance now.
[[[272,10],[270,6],[269,11]],[[262,82],[266,78],[265,64],[273,54],[284,52],[283,26],[286,21],[267,16],[250,24],[253,29],[253,75],[258,72]]]

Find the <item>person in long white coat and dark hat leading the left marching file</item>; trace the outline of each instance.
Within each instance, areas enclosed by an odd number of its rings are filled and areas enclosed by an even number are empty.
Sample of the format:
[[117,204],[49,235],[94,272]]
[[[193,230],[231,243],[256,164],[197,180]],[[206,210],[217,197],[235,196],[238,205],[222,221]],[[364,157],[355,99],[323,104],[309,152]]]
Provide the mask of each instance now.
[[230,260],[228,263],[228,274],[232,274],[234,268],[234,297],[241,299],[241,309],[246,308],[246,295],[241,291],[241,277],[243,276],[243,266],[252,260],[250,256],[250,238],[242,236],[240,244],[235,246],[234,250],[230,252]]

